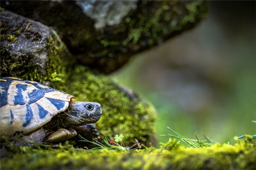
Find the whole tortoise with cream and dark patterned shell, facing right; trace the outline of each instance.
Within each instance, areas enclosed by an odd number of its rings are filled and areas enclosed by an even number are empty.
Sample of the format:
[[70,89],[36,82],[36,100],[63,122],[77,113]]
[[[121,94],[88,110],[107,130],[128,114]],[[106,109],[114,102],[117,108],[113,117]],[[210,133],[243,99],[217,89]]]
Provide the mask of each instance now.
[[28,136],[36,142],[62,142],[82,133],[99,139],[91,123],[102,115],[96,102],[79,102],[63,91],[15,77],[0,79],[0,136]]

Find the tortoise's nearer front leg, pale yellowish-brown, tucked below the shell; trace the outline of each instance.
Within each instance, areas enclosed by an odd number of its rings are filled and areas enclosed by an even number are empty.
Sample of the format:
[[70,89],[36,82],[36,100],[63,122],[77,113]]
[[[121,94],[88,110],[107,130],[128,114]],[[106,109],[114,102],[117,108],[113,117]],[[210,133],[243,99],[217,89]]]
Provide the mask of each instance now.
[[46,137],[46,142],[54,143],[54,142],[62,142],[66,141],[70,138],[76,136],[76,130],[73,129],[58,129],[53,133],[50,133]]

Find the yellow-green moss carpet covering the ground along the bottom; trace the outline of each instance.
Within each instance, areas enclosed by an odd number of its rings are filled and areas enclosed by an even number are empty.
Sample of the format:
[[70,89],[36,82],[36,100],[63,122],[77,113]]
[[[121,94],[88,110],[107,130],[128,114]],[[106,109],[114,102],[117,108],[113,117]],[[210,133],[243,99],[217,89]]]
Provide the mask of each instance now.
[[2,169],[83,169],[83,170],[253,170],[256,167],[256,145],[241,141],[235,145],[214,144],[210,147],[174,150],[154,149],[86,151],[73,147],[33,149],[22,147],[18,153],[1,159]]

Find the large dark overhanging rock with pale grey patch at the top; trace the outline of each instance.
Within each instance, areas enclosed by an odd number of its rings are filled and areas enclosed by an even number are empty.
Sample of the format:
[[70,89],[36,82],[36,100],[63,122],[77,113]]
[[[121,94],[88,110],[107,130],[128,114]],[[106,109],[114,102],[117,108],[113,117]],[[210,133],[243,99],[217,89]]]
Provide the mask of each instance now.
[[103,73],[192,28],[203,1],[1,1],[1,6],[53,27],[79,62]]

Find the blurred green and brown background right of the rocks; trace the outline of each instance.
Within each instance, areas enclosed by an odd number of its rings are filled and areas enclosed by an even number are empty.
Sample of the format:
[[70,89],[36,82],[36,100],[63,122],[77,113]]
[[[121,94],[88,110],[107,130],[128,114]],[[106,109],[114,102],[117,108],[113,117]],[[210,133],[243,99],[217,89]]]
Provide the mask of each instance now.
[[166,126],[218,142],[255,134],[255,1],[209,1],[194,29],[139,54],[111,76],[151,101],[158,142]]

